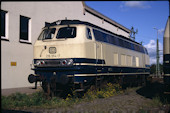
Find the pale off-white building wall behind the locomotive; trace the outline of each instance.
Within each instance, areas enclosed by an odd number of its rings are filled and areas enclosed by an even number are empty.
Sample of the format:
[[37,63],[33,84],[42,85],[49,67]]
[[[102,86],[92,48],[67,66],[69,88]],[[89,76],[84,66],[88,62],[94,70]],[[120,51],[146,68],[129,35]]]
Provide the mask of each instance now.
[[[83,14],[82,2],[1,2],[1,9],[8,11],[8,39],[1,40],[1,88],[30,87],[28,75],[34,73],[30,64],[33,60],[33,44],[35,43],[45,22],[61,19],[78,19],[88,21],[106,29],[127,36],[124,31],[116,29],[107,22],[88,12]],[[31,18],[31,44],[19,42],[20,15]],[[16,66],[11,66],[16,62]]]

